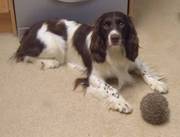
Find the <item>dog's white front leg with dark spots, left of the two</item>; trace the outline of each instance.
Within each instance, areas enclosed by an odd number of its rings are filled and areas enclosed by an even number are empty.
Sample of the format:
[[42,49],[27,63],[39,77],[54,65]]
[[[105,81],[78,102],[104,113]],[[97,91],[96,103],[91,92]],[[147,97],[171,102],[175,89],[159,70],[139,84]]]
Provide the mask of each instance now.
[[118,93],[117,89],[94,75],[91,75],[90,77],[90,86],[87,88],[87,93],[90,93],[99,99],[103,99],[109,109],[126,114],[132,112],[132,107]]

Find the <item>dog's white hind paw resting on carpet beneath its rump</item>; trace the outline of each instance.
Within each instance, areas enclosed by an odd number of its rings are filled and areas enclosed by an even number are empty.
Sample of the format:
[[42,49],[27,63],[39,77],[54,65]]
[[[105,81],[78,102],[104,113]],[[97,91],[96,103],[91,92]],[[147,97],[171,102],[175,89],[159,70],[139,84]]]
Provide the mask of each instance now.
[[59,61],[57,60],[42,60],[41,61],[41,69],[55,69],[60,66]]

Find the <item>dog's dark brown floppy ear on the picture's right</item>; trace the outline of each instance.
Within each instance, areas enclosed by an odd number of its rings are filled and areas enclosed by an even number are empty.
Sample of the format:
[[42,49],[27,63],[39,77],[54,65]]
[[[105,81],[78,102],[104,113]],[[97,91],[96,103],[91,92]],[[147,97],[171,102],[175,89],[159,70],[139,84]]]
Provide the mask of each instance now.
[[125,39],[125,50],[126,57],[131,61],[135,61],[136,57],[138,56],[139,40],[134,24],[130,17],[127,17],[127,36]]

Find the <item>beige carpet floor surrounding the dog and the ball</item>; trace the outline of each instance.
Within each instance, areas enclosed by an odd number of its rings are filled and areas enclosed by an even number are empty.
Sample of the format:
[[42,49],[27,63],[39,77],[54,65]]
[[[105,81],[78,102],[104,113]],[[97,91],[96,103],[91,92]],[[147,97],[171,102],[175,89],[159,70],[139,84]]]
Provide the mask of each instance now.
[[151,91],[142,81],[122,91],[134,108],[131,115],[108,111],[100,101],[72,91],[78,74],[71,69],[41,71],[9,62],[18,40],[0,34],[0,137],[180,136],[180,1],[135,1],[140,56],[169,85],[169,123],[152,126],[142,120],[139,103]]

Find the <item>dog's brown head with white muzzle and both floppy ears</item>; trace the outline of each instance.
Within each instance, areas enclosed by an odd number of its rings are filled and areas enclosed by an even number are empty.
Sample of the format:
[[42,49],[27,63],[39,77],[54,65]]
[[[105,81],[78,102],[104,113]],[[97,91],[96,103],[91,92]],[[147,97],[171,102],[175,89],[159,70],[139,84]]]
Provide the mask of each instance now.
[[107,48],[115,46],[124,46],[131,61],[138,56],[138,37],[131,19],[121,12],[108,12],[95,23],[90,46],[93,59],[104,62]]

